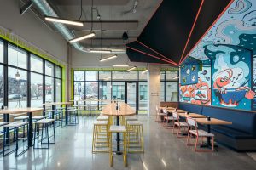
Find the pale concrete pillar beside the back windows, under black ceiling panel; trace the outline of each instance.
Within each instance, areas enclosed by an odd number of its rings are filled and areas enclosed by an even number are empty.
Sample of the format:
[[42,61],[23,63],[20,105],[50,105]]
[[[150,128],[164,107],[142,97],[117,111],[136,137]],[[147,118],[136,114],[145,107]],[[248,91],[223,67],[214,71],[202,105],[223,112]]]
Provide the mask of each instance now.
[[155,115],[155,105],[160,105],[160,66],[148,66],[148,116]]

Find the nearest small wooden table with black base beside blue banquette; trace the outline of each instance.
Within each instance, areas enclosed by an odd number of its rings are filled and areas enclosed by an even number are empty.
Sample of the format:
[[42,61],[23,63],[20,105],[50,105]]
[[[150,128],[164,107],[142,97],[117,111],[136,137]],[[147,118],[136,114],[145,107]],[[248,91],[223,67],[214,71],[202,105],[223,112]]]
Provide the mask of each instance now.
[[[207,132],[211,133],[211,125],[231,125],[232,122],[211,118],[210,121],[207,118],[195,118],[195,121],[202,124],[207,125]],[[218,147],[218,145],[216,145]],[[207,144],[201,145],[201,147],[211,147],[211,139],[207,138]]]

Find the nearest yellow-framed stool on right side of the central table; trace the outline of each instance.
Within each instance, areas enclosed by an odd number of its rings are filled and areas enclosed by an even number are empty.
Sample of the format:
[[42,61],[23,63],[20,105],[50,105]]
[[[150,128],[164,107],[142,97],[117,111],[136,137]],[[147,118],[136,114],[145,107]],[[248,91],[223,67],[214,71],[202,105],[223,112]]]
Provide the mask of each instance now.
[[[143,123],[139,121],[127,121],[127,138],[128,138],[128,153],[143,153],[144,152],[144,138],[143,138]],[[131,140],[131,133],[135,138]],[[132,144],[132,145],[131,145]],[[138,150],[130,150],[131,148],[139,148]]]

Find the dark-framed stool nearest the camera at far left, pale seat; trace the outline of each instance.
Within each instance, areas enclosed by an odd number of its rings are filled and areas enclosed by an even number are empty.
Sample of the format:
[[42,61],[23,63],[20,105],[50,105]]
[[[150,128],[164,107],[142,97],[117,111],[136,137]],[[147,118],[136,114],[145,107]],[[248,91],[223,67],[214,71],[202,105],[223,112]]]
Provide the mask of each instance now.
[[[9,124],[3,125],[3,157],[7,156],[13,152],[15,152],[15,156],[18,157],[21,154],[25,153],[28,148],[26,148],[26,150],[22,150],[19,154],[18,154],[18,150],[19,150],[19,139],[24,139],[24,138],[19,138],[19,129],[20,127],[26,126],[26,131],[28,132],[28,122],[11,122]],[[7,139],[7,129],[13,128],[14,129],[14,138],[15,138],[15,144],[11,144],[11,143],[7,143],[9,141],[9,139]],[[27,141],[27,139],[26,139]],[[23,140],[24,143],[24,140]],[[10,145],[15,145],[15,149],[9,151],[7,154],[5,154],[5,147]]]

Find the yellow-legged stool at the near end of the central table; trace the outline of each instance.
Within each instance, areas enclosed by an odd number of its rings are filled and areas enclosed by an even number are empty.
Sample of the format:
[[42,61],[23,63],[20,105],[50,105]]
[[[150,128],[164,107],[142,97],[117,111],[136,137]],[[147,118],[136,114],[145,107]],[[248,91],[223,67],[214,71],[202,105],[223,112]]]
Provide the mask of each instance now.
[[110,163],[110,167],[113,167],[113,151],[112,151],[112,133],[123,133],[123,138],[124,138],[124,142],[123,142],[123,147],[124,147],[124,152],[123,152],[123,159],[124,159],[124,164],[125,167],[127,166],[127,139],[126,139],[126,127],[125,126],[116,126],[116,125],[111,125],[109,128],[109,163]]

